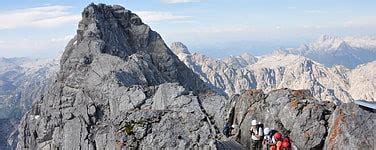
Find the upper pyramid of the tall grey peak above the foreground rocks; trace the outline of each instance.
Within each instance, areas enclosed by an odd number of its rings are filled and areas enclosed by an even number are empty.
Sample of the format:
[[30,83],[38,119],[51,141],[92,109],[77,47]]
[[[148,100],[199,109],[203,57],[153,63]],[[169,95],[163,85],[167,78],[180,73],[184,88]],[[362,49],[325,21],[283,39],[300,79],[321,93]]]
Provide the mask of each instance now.
[[125,86],[178,82],[189,90],[206,89],[136,14],[119,5],[91,4],[62,56],[59,79],[75,81],[70,86],[76,87],[88,77],[104,76]]

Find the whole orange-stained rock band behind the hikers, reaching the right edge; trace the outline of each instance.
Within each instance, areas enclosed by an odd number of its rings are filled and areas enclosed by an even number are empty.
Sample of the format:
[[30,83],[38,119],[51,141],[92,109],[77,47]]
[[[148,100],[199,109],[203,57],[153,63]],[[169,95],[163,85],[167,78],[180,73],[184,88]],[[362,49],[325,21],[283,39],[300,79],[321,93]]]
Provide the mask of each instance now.
[[354,103],[336,108],[333,103],[315,100],[305,90],[280,89],[268,94],[247,90],[231,99],[229,111],[229,121],[240,127],[238,141],[247,147],[253,119],[289,136],[299,149],[375,147],[374,112]]

